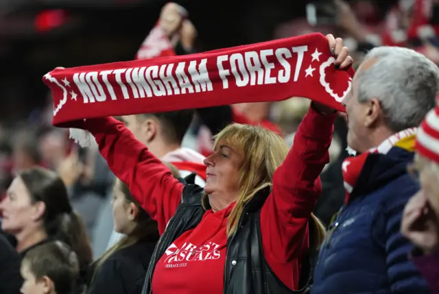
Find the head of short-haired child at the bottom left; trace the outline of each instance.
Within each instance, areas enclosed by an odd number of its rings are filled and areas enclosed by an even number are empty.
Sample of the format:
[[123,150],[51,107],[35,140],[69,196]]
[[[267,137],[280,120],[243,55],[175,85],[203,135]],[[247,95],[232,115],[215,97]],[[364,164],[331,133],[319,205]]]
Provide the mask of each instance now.
[[23,294],[68,294],[78,280],[78,257],[60,241],[38,245],[23,258],[21,275]]

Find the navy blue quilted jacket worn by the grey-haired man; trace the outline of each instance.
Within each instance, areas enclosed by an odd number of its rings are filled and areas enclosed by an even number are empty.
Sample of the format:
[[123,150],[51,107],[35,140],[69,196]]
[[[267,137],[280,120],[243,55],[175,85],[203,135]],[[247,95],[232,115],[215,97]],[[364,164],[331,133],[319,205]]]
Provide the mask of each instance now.
[[400,233],[405,203],[418,191],[407,174],[413,153],[393,147],[368,156],[348,204],[329,226],[312,294],[424,294],[425,280],[408,259]]

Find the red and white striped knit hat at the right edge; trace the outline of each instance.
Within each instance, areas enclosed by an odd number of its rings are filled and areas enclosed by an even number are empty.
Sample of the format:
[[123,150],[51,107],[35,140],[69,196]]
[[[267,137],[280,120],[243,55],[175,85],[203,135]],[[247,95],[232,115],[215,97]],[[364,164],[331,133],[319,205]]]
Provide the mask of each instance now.
[[425,117],[416,134],[418,154],[439,163],[439,106]]

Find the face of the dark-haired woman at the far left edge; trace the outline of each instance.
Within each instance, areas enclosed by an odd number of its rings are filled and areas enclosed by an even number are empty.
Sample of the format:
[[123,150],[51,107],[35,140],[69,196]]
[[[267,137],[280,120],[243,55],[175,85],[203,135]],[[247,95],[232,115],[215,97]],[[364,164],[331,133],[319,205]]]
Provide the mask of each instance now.
[[29,191],[21,177],[15,177],[8,188],[7,196],[0,203],[0,210],[3,213],[1,229],[16,235],[24,228],[29,228],[40,214],[36,206],[32,204]]

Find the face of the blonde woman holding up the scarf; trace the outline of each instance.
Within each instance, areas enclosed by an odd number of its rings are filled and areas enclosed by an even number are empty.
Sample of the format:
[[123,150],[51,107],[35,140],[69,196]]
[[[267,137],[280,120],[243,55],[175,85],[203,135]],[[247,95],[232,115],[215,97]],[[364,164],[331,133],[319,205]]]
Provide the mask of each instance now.
[[206,186],[204,191],[209,195],[239,193],[239,168],[244,156],[233,147],[218,143],[211,156],[204,159],[206,164]]

